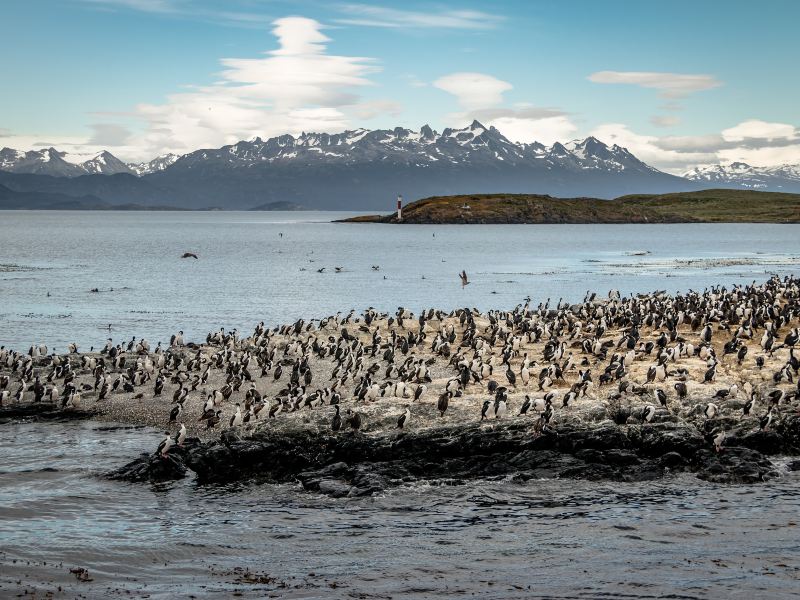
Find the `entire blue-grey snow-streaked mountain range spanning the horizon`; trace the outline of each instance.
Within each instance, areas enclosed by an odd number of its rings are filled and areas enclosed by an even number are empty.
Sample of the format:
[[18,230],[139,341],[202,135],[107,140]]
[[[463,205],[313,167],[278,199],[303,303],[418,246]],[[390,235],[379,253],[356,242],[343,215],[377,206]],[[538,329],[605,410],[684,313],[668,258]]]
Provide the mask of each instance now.
[[[397,194],[414,200],[497,192],[613,198],[702,187],[800,191],[798,167],[734,163],[677,177],[594,137],[552,146],[520,144],[478,121],[441,133],[425,125],[419,131],[396,127],[254,138],[139,164],[125,164],[107,151],[84,161],[71,158],[55,148],[3,148],[5,196],[45,194],[61,204],[92,198],[109,205],[195,209],[290,203],[385,211]],[[24,202],[17,198],[16,204]]]

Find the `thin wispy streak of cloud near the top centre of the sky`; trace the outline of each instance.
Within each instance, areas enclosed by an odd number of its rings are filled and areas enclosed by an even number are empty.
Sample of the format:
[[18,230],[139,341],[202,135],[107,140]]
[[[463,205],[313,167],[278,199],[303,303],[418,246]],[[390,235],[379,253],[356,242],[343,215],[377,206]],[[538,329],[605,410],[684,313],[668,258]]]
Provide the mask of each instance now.
[[411,11],[370,4],[343,4],[347,15],[336,19],[343,25],[385,27],[392,29],[493,29],[502,17],[478,10]]

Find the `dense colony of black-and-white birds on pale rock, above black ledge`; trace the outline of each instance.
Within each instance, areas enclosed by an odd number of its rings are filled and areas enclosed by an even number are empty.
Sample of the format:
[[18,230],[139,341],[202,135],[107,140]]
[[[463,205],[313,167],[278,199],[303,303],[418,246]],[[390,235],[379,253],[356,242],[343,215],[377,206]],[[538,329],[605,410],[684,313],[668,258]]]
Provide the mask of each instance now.
[[530,299],[512,310],[372,308],[224,329],[168,347],[108,340],[98,352],[0,349],[0,402],[91,411],[187,436],[315,428],[402,434],[522,420],[640,426],[684,421],[722,450],[732,424],[768,429],[800,399],[800,279],[607,297]]

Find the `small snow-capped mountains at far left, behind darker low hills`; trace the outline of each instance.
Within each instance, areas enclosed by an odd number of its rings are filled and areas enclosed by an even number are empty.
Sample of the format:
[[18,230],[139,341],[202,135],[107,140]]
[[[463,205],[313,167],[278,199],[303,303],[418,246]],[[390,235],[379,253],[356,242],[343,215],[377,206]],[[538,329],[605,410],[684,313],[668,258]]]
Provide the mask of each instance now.
[[0,150],[0,171],[51,175],[53,177],[78,177],[80,175],[114,175],[132,173],[130,168],[110,152],[104,150],[89,160],[73,157],[55,148],[21,152],[13,148]]

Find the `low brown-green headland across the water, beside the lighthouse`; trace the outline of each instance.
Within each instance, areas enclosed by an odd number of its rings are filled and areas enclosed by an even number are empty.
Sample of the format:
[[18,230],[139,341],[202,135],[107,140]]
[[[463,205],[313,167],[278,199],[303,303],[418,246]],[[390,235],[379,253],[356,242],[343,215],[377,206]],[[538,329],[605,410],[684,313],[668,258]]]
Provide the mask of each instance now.
[[434,196],[397,213],[346,223],[394,224],[646,224],[800,223],[800,194],[710,189],[636,194],[614,200],[532,194]]

